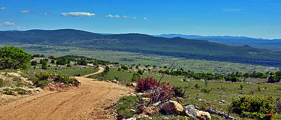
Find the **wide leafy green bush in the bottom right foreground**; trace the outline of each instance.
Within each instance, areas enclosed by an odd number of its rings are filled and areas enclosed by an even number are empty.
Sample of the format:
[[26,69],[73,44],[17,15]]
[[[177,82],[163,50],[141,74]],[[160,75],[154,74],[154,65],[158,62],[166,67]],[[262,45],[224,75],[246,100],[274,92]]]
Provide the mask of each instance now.
[[231,102],[232,112],[242,117],[270,119],[276,114],[275,99],[269,97],[239,97]]

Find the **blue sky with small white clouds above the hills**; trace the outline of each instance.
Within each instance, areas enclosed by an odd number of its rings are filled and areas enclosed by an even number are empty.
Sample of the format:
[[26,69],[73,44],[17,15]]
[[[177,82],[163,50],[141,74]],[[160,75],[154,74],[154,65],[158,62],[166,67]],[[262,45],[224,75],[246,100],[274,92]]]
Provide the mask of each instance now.
[[112,34],[281,39],[281,1],[0,2],[0,31],[62,28]]

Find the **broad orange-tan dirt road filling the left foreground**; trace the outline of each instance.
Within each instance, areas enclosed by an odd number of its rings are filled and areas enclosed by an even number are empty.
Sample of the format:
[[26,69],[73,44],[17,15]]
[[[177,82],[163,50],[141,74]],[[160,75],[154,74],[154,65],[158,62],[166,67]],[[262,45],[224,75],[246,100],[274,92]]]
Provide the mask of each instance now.
[[133,92],[115,83],[76,78],[82,83],[76,89],[41,92],[0,105],[0,119],[114,119],[104,109]]

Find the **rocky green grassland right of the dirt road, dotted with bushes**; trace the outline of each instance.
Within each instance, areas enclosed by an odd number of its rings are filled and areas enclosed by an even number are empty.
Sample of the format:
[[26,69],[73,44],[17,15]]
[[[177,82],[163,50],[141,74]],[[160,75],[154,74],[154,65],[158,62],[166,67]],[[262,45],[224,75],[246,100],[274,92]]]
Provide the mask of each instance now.
[[[151,69],[153,71],[153,69]],[[131,72],[130,72],[131,71]],[[134,70],[126,71],[116,71],[116,69],[111,69],[107,75],[103,76],[103,80],[113,80],[119,78],[121,83],[132,82],[131,78],[133,76]],[[101,76],[101,74],[99,74]],[[97,77],[99,75],[94,75],[91,77]],[[151,76],[160,79],[161,75],[158,73],[145,72],[141,77]],[[197,107],[209,108],[212,105],[213,109],[218,111],[228,113],[230,103],[232,100],[238,99],[242,96],[251,97],[265,97],[272,96],[274,98],[281,98],[281,85],[280,84],[256,84],[256,83],[242,83],[242,82],[224,82],[224,81],[208,81],[207,85],[202,80],[189,79],[188,81],[182,81],[183,76],[171,76],[165,75],[162,79],[163,81],[169,81],[172,85],[181,86],[186,89],[185,95],[189,96],[184,98],[181,105],[192,104]],[[127,82],[124,82],[127,81]],[[254,81],[252,79],[246,79],[247,82]],[[257,81],[257,80],[256,80]],[[259,81],[267,81],[266,79],[260,79]],[[203,93],[200,89],[195,88],[195,84],[199,84],[201,87],[206,87],[212,89],[211,93]],[[240,85],[243,84],[243,89],[240,89]],[[259,89],[260,87],[260,89]],[[250,94],[254,88],[254,94]],[[202,101],[199,101],[201,99]],[[218,101],[224,100],[226,103],[219,103]],[[212,115],[216,119],[220,118],[217,115]],[[238,117],[237,114],[231,113],[231,116]],[[280,114],[275,115],[275,118],[281,118]],[[244,118],[241,118],[244,119]],[[247,118],[245,118],[247,119]]]

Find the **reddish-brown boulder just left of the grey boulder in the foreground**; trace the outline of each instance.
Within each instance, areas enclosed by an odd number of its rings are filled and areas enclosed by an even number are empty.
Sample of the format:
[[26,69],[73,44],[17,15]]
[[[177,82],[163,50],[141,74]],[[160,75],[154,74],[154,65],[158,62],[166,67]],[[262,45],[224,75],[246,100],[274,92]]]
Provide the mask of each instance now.
[[163,103],[160,111],[165,114],[181,114],[183,107],[176,101]]

